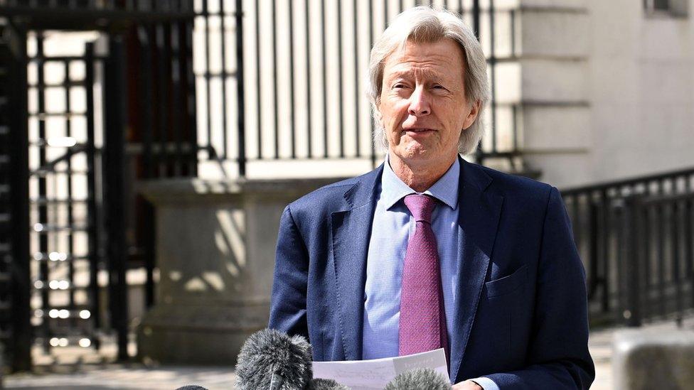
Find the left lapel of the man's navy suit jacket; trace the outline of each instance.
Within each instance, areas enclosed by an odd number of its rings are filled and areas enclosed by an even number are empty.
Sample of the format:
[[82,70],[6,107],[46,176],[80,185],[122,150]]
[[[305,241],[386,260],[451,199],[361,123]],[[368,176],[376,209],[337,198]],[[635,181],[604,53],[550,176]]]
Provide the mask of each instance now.
[[362,176],[345,193],[345,210],[331,215],[333,269],[347,360],[359,360],[362,356],[366,256],[375,209],[375,190],[382,173],[383,165]]

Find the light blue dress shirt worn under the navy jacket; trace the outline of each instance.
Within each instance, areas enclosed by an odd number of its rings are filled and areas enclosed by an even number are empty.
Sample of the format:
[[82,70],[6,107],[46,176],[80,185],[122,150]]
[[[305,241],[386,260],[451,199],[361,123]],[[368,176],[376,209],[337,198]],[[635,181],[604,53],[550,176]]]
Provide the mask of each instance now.
[[[436,235],[441,284],[446,312],[446,329],[454,334],[458,272],[458,181],[460,164],[454,161],[446,173],[424,194],[439,203],[432,212],[432,229]],[[364,288],[363,359],[395,357],[398,354],[400,323],[400,285],[402,267],[415,222],[402,202],[405,195],[417,193],[395,175],[388,158],[383,167],[378,199],[373,215],[371,238],[366,260]],[[448,337],[449,349],[451,337]],[[485,390],[498,389],[489,378],[474,379]]]

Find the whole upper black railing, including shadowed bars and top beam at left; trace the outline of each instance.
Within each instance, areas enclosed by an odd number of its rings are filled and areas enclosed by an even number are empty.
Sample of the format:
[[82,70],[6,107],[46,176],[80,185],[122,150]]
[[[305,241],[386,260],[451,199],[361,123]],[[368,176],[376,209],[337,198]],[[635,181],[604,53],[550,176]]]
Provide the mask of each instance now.
[[43,30],[134,28],[137,72],[129,71],[139,80],[129,97],[139,109],[128,141],[144,176],[196,176],[198,161],[212,161],[243,177],[264,161],[374,166],[369,51],[397,13],[417,5],[459,13],[488,54],[489,131],[477,161],[518,156],[520,106],[496,99],[498,64],[518,60],[517,13],[493,0],[0,0],[0,16]]

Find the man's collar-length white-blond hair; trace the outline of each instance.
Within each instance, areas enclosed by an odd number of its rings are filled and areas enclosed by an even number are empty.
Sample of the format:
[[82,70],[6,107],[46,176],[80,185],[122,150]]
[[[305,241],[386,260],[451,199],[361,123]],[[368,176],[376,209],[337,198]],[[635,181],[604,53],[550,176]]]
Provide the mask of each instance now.
[[400,13],[371,48],[366,93],[376,119],[373,134],[376,144],[382,143],[385,148],[388,148],[388,139],[378,111],[385,60],[395,50],[403,48],[407,42],[434,43],[444,38],[454,40],[463,51],[465,65],[461,71],[464,74],[465,97],[470,104],[479,102],[477,118],[468,129],[461,131],[458,151],[469,154],[477,148],[484,133],[482,112],[489,100],[487,64],[482,46],[472,29],[455,13],[446,10],[437,11],[427,6],[417,6]]

